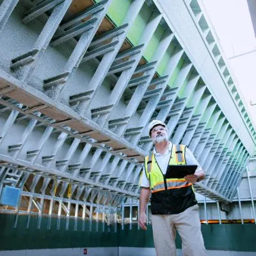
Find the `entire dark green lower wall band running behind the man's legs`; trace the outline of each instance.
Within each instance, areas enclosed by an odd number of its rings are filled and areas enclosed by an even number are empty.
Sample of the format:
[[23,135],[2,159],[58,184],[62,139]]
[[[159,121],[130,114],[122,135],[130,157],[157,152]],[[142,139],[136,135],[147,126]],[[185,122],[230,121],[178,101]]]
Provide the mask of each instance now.
[[[52,219],[52,228],[47,230],[47,218],[42,219],[42,228],[36,229],[37,218],[31,218],[29,228],[26,228],[26,216],[19,216],[18,227],[13,228],[15,216],[0,214],[0,250],[26,250],[42,248],[82,248],[82,247],[154,247],[152,227],[148,230],[138,230],[138,225],[125,225],[122,230],[118,225],[117,232],[102,232],[102,223],[99,223],[99,232],[95,231],[95,222],[92,232],[86,221],[85,231],[81,230],[81,221],[77,223],[77,231],[73,230],[74,221],[70,220],[70,230],[65,230],[65,220],[61,220],[60,230],[56,230],[56,220]],[[237,252],[256,252],[254,224],[223,224],[202,225],[205,247],[207,250],[228,250]],[[180,237],[177,236],[177,248],[181,248]]]

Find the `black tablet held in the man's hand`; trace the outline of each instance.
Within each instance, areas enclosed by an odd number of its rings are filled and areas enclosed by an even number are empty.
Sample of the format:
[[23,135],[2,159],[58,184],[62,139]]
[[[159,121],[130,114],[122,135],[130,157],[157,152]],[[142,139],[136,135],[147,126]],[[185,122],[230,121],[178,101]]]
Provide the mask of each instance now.
[[191,165],[168,165],[167,171],[164,175],[165,179],[182,179],[186,175],[194,174],[196,168],[198,166],[196,164]]

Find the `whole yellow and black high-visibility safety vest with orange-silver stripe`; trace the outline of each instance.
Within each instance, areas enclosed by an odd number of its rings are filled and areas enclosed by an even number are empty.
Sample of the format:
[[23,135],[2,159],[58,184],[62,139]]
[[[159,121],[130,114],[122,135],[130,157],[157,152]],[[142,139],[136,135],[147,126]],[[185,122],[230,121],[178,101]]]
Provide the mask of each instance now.
[[[169,164],[186,164],[186,146],[172,145]],[[154,154],[145,157],[150,182],[152,214],[179,214],[197,204],[193,185],[185,179],[165,179]]]

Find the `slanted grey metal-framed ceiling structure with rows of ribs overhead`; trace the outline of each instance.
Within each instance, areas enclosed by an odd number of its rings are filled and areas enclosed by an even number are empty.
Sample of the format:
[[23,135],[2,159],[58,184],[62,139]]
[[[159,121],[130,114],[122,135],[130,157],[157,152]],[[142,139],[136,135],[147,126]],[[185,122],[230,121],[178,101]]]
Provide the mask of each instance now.
[[200,3],[165,2],[0,1],[0,189],[138,198],[157,118],[203,166],[195,191],[232,201],[256,132]]

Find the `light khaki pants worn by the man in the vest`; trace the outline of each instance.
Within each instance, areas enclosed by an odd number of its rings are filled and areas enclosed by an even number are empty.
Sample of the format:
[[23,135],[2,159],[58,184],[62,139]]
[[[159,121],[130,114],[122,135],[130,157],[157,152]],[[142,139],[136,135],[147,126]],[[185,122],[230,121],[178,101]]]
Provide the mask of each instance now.
[[205,256],[204,239],[198,214],[193,205],[179,214],[152,214],[154,244],[157,256],[176,256],[176,230],[182,240],[184,256]]

